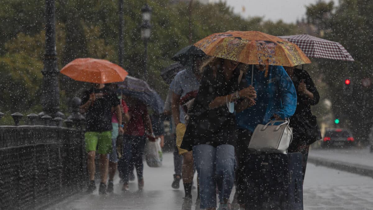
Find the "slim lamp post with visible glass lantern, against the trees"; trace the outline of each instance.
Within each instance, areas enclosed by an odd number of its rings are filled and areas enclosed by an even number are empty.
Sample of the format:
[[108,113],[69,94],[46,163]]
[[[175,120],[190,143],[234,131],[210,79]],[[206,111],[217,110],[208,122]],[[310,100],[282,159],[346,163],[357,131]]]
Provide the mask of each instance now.
[[144,40],[144,80],[147,80],[147,59],[148,59],[148,40],[151,35],[151,8],[145,4],[141,9],[142,25],[141,25],[141,38]]

